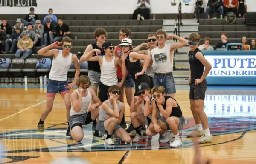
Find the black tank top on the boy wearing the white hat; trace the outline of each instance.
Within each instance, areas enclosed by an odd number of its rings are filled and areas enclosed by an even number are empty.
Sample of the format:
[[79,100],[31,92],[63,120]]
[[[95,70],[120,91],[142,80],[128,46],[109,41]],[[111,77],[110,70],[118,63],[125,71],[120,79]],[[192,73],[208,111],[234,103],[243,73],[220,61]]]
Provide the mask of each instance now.
[[[129,52],[129,54],[130,54],[130,52]],[[139,59],[136,62],[130,62],[129,54],[128,54],[127,59],[125,60],[125,65],[129,71],[129,74],[131,75],[131,78],[135,82],[137,80],[137,79],[135,79],[135,74],[142,71],[142,65],[141,65]]]

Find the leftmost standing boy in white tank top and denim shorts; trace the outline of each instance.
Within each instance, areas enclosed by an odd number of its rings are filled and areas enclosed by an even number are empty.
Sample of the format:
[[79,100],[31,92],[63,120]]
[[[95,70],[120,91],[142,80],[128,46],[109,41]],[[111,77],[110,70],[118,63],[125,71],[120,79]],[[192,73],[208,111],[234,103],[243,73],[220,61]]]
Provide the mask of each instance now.
[[[80,67],[78,58],[76,55],[70,53],[72,48],[72,39],[69,37],[64,37],[62,42],[54,42],[38,51],[38,55],[42,56],[53,56],[52,68],[49,74],[49,80],[47,84],[47,94],[46,94],[46,108],[42,111],[40,121],[38,123],[38,131],[44,131],[44,120],[47,118],[48,114],[52,111],[53,102],[56,93],[60,93],[65,106],[66,106],[66,116],[69,120],[69,113],[71,108],[70,102],[70,88],[76,85],[76,81],[80,74]],[[63,50],[52,49],[60,48]],[[70,68],[71,63],[74,63],[76,68],[76,73],[74,80],[71,84],[67,82],[67,72]],[[67,136],[70,135],[69,128],[67,130]]]

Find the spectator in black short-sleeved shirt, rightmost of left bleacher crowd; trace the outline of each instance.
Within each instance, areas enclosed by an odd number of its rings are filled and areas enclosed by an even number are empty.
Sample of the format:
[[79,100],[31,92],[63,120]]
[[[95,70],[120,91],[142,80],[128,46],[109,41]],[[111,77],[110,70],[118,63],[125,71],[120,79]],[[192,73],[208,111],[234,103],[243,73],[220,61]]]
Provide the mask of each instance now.
[[60,42],[62,38],[69,37],[69,26],[63,23],[62,18],[58,18],[58,25],[55,27],[55,38],[53,42]]

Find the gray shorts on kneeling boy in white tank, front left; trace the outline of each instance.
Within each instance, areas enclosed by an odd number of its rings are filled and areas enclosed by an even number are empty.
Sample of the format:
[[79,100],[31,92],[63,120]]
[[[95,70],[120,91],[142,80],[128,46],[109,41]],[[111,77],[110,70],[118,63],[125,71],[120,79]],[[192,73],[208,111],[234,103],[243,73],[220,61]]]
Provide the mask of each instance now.
[[71,129],[75,126],[79,126],[82,128],[82,125],[87,125],[93,122],[91,112],[87,112],[84,114],[75,114],[70,116],[69,118],[69,126]]

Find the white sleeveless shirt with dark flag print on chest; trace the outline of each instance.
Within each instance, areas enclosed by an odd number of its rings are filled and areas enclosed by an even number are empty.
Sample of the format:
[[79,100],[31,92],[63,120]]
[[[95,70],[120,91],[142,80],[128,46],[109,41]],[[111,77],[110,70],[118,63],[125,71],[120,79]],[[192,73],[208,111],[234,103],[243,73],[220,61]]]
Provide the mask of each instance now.
[[173,53],[170,59],[170,44],[165,45],[164,48],[154,48],[151,50],[153,65],[156,73],[169,73],[173,69]]

